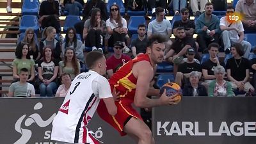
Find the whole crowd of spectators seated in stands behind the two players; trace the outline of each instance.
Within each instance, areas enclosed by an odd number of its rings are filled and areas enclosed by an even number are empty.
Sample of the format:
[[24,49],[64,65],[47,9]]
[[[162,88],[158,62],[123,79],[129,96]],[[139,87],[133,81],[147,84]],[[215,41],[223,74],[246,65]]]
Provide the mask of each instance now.
[[[88,1],[84,6],[83,22],[76,24],[75,28],[68,28],[65,39],[60,41],[56,38],[56,35],[60,35],[60,3],[54,0],[42,1],[39,22],[44,28],[44,38],[37,44],[33,29],[26,29],[24,40],[17,45],[15,51],[13,83],[9,97],[19,97],[15,95],[15,88],[24,84],[29,90],[26,97],[34,97],[35,92],[40,93],[41,97],[53,97],[54,93],[56,97],[65,97],[72,79],[86,65],[84,47],[92,47],[92,51],[100,52],[104,52],[104,45],[113,47],[113,55],[106,61],[106,72],[108,77],[111,77],[131,58],[145,53],[147,38],[155,33],[168,37],[163,59],[173,65],[175,83],[182,87],[183,95],[234,96],[243,92],[246,95],[254,95],[256,59],[248,60],[252,45],[244,40],[244,29],[256,26],[256,15],[251,15],[255,17],[254,21],[244,19],[232,23],[227,20],[228,16],[219,19],[212,14],[213,3],[205,3],[204,6],[201,5],[201,10],[193,6],[193,14],[198,16],[194,22],[189,19],[189,10],[184,6],[184,1],[180,0],[179,6],[179,1],[173,0],[173,10],[175,15],[180,15],[181,20],[175,21],[172,26],[170,20],[164,19],[167,3],[166,0],[163,1],[165,5],[160,3],[161,0],[152,4],[150,1],[149,7],[152,8],[156,19],[149,22],[148,26],[140,24],[138,38],[132,42],[127,31],[127,21],[120,15],[118,5],[110,6],[108,19],[106,4],[100,3],[101,0]],[[240,1],[237,3],[240,5],[236,6],[237,13],[244,10]],[[141,10],[138,6],[140,1],[136,2],[137,5],[127,3],[127,8]],[[156,7],[157,4],[163,4],[161,6],[164,8]],[[247,0],[246,4],[253,4],[256,8],[256,4]],[[77,15],[83,4],[79,1],[65,1],[64,6],[65,10]],[[86,8],[90,7],[90,12],[87,12]],[[227,6],[227,15],[234,12],[232,6]],[[82,34],[83,40],[77,38],[76,31]],[[170,38],[172,33],[175,40]],[[196,40],[193,38],[194,34],[197,34]],[[107,44],[104,44],[105,42]],[[232,55],[232,58],[225,62],[220,61],[218,56],[220,45],[223,45],[226,54]],[[130,54],[124,54],[130,51]],[[198,51],[209,54],[209,59],[203,61]],[[254,74],[252,84],[250,70]],[[30,84],[33,84],[36,90],[31,90]]]

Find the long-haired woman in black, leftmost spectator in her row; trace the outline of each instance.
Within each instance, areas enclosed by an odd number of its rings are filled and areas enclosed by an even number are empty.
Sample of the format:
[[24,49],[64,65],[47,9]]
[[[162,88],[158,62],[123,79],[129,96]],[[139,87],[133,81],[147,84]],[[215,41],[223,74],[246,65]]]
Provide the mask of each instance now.
[[[21,42],[28,44],[28,54],[30,58],[37,61],[40,58],[40,54],[38,51],[37,41],[35,40],[35,31],[32,28],[28,28],[25,31],[25,36]],[[17,54],[15,54],[17,56]]]

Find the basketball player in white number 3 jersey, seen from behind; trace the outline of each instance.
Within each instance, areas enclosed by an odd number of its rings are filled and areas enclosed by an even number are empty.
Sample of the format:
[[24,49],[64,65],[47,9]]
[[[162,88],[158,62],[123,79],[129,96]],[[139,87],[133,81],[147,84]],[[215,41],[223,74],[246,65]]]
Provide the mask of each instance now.
[[[92,51],[86,56],[89,71],[72,81],[58,114],[52,122],[51,140],[58,144],[99,143],[89,133],[86,125],[92,119],[100,99],[104,100],[110,115],[116,114],[116,105],[105,77],[106,58]],[[115,95],[115,93],[113,93]]]

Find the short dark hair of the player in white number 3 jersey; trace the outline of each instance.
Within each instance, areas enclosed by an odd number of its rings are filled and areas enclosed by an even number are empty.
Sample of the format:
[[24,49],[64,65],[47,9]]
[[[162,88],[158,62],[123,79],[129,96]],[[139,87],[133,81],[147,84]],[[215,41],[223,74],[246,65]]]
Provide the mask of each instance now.
[[102,58],[104,56],[104,54],[102,52],[99,51],[91,51],[88,52],[85,61],[86,61],[86,65],[89,69],[92,69],[93,66],[95,65],[95,62],[97,60],[100,60],[100,58]]

